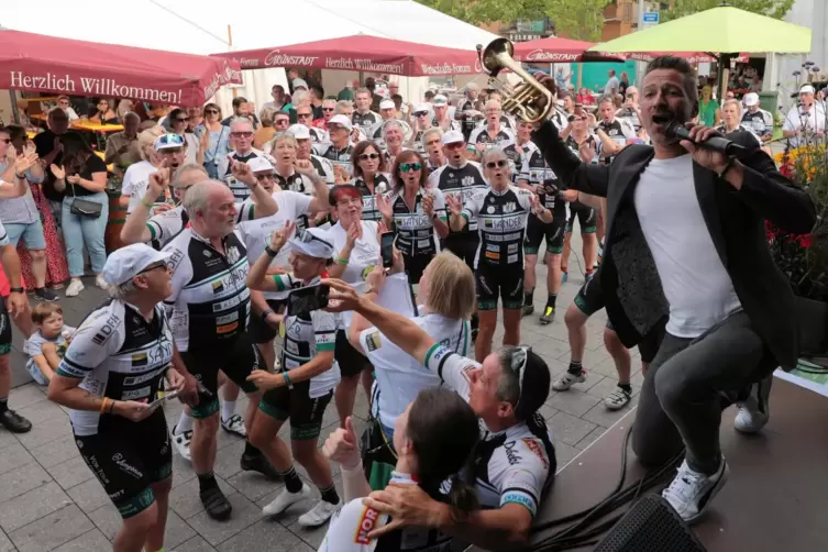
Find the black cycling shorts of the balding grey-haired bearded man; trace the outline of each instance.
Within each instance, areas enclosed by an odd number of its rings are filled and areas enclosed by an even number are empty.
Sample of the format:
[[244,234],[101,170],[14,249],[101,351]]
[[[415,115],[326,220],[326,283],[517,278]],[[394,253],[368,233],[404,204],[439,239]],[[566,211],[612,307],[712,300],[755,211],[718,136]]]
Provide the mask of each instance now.
[[223,351],[183,351],[181,360],[190,374],[201,384],[198,405],[192,407],[192,417],[208,418],[219,411],[219,371],[223,372],[244,393],[255,393],[256,385],[247,382],[254,369],[266,369],[258,347],[249,333],[241,333],[225,344]]

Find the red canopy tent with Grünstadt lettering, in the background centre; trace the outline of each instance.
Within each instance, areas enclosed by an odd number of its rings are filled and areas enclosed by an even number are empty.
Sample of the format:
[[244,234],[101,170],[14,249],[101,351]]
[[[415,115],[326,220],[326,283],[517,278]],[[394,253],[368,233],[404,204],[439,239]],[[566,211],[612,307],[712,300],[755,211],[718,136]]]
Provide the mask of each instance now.
[[366,34],[212,55],[234,59],[242,69],[349,69],[406,77],[481,73],[476,51],[444,48]]

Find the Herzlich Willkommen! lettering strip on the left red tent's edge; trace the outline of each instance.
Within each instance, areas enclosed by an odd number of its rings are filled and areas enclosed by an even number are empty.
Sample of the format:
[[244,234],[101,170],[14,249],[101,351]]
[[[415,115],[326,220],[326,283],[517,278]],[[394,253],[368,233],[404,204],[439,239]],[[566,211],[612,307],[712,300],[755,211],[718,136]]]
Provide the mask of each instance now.
[[[162,103],[180,103],[181,89],[177,92],[158,90],[157,88],[141,88],[119,85],[111,78],[78,77],[80,90],[89,96],[102,96],[106,98],[132,98]],[[77,80],[69,75],[58,76],[52,73],[46,75],[26,75],[23,71],[11,71],[11,88],[29,90],[54,90],[57,92],[77,92]]]

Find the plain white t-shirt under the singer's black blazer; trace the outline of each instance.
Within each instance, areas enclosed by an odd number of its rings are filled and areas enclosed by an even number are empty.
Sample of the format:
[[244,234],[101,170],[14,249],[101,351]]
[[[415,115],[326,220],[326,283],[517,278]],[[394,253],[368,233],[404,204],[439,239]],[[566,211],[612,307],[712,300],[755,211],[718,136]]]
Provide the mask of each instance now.
[[636,187],[634,201],[670,302],[666,331],[697,338],[741,310],[698,205],[693,157],[652,159]]

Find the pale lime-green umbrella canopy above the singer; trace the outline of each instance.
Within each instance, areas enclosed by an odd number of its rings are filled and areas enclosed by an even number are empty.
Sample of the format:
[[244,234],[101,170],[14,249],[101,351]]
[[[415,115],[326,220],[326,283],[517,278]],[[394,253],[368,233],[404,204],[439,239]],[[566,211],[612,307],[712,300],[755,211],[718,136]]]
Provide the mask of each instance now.
[[810,52],[810,29],[721,7],[596,44],[589,51],[801,54]]

